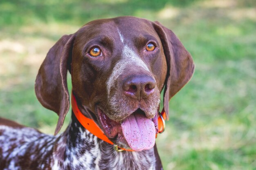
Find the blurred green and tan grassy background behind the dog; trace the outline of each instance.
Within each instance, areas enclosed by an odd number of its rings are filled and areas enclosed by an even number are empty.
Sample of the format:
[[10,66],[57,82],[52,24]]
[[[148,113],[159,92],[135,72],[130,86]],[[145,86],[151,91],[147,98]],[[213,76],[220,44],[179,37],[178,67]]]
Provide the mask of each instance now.
[[255,0],[1,0],[0,116],[53,133],[58,117],[34,93],[46,53],[86,22],[121,15],[158,20],[195,61],[157,138],[164,169],[256,170]]

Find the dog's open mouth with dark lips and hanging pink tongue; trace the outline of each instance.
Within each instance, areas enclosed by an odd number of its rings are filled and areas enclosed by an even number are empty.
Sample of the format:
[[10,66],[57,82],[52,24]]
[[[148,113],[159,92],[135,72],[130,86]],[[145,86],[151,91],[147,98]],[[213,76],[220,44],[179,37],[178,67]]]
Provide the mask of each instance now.
[[121,123],[111,120],[97,108],[103,131],[110,139],[120,141],[128,149],[140,151],[153,148],[158,131],[157,114],[148,119],[143,110],[137,109]]

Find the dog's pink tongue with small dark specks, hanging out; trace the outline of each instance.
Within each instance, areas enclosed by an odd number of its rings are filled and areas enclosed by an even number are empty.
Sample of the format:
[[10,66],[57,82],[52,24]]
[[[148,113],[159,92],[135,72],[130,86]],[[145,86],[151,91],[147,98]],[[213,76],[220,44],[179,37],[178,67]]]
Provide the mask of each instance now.
[[146,150],[155,145],[155,125],[142,114],[132,114],[122,123],[126,141],[132,150]]

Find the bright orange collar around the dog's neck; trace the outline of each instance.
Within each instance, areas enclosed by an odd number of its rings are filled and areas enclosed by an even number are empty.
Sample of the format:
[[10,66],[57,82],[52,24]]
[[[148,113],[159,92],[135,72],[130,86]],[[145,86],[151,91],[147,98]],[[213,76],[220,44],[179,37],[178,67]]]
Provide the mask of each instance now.
[[[91,132],[93,135],[97,136],[99,139],[108,142],[111,145],[114,145],[114,149],[117,151],[134,151],[134,150],[128,150],[125,148],[119,148],[117,145],[113,144],[112,141],[108,139],[108,137],[104,134],[104,132],[99,128],[99,126],[92,120],[89,119],[88,117],[85,117],[81,111],[79,110],[77,103],[76,103],[76,98],[74,97],[73,93],[71,94],[71,104],[72,104],[72,110],[74,112],[74,115],[76,116],[76,119],[81,123],[81,125],[87,129],[89,132]],[[165,129],[165,119],[166,119],[166,113],[164,110],[162,110],[162,113],[159,113],[158,117],[158,132],[157,133],[162,133],[164,132]],[[157,134],[156,134],[157,137]]]

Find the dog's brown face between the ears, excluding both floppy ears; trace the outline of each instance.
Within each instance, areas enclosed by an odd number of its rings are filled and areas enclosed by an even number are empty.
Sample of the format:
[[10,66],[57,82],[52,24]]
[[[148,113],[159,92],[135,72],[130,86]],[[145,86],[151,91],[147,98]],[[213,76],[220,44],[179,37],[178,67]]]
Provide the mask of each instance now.
[[[133,146],[131,134],[125,135],[124,128],[135,121],[128,129],[133,135],[147,137],[151,130],[150,139],[155,137],[157,119],[153,118],[166,68],[161,40],[146,20],[97,20],[76,33],[71,67],[73,92],[81,110],[87,107],[107,137],[120,147],[141,150],[154,146],[154,139],[144,147],[141,145],[146,142],[138,139]],[[144,122],[136,124],[138,117],[150,120],[152,124],[146,126],[151,125],[151,129],[139,127]]]

